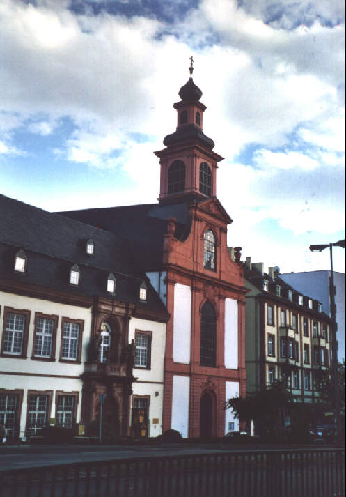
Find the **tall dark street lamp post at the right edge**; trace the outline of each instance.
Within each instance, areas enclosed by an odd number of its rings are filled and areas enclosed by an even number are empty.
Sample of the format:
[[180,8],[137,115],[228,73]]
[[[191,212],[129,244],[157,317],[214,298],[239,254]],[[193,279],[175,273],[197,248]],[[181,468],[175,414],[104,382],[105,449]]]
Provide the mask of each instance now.
[[339,240],[336,243],[328,243],[326,245],[310,245],[311,252],[322,252],[329,247],[331,257],[331,276],[329,278],[329,297],[330,297],[330,312],[331,312],[331,369],[333,371],[334,383],[334,424],[336,426],[336,434],[340,437],[340,389],[338,379],[338,342],[336,341],[336,305],[335,305],[335,287],[333,275],[333,247],[345,248],[345,240]]

